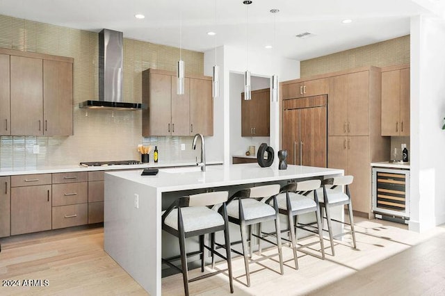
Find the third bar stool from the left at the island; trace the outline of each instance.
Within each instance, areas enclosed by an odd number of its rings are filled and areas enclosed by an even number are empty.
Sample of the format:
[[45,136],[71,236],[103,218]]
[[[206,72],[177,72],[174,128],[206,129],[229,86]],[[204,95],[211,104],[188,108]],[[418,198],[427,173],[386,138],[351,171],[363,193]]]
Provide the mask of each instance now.
[[[277,195],[277,202],[280,214],[287,216],[287,222],[289,225],[289,231],[291,236],[291,246],[293,249],[293,260],[295,261],[295,268],[298,270],[298,256],[297,249],[302,247],[309,247],[314,245],[314,242],[301,245],[297,245],[296,228],[304,229],[316,233],[312,229],[307,229],[308,224],[298,223],[298,215],[305,213],[315,213],[317,220],[317,232],[321,245],[321,258],[325,258],[325,247],[323,245],[323,229],[321,227],[321,211],[318,204],[318,195],[316,190],[320,188],[320,180],[301,181],[297,183],[290,183],[284,186],[281,193]],[[313,194],[312,194],[313,192]],[[307,197],[312,194],[313,198]],[[295,220],[295,221],[294,221]]]

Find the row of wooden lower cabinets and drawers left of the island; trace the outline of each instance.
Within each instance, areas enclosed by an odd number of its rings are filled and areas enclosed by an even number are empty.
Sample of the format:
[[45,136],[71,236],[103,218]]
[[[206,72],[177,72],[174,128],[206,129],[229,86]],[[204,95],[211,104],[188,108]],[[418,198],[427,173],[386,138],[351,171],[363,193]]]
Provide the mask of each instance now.
[[0,176],[0,237],[104,221],[104,171]]

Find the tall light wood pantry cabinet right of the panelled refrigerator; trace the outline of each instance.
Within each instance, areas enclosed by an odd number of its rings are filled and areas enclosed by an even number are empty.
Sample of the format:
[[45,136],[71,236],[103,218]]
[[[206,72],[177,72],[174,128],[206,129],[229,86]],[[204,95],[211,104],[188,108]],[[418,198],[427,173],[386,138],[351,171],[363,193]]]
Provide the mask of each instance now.
[[[343,169],[354,176],[350,186],[353,210],[371,217],[371,162],[389,159],[390,150],[389,138],[380,135],[380,69],[360,67],[300,80],[321,79],[328,81],[327,167]],[[286,101],[289,100],[283,100],[283,109]],[[283,148],[289,140],[285,116],[282,110]]]

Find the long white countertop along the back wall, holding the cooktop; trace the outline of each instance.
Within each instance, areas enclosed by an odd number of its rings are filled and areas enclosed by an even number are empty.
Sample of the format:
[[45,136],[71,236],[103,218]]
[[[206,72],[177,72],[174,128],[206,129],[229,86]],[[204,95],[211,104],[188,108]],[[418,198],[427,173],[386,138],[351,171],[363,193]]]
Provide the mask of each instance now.
[[[209,161],[208,165],[221,165],[222,161]],[[181,167],[193,166],[195,162],[187,163],[142,163],[140,165],[103,165],[97,167],[83,167],[81,165],[61,165],[39,167],[38,169],[4,169],[0,170],[0,176],[15,176],[19,174],[51,174],[60,172],[90,172],[90,171],[104,171],[104,170],[143,170],[147,167]]]

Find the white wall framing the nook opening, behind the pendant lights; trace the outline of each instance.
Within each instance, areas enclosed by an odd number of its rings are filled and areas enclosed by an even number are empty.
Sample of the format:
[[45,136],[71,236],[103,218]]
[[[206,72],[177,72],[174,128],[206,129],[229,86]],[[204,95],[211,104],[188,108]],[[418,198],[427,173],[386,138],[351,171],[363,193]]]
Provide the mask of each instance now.
[[[223,96],[223,101],[220,99],[213,101],[213,137],[206,139],[207,145],[207,159],[208,160],[223,160],[225,164],[230,163],[230,73],[243,73],[248,68],[252,76],[270,77],[273,74],[279,76],[280,81],[297,79],[300,77],[300,62],[298,60],[290,60],[286,58],[271,59],[270,55],[249,54],[249,65],[246,63],[246,53],[244,49],[236,49],[234,47],[218,47],[217,60],[220,66],[220,94]],[[222,59],[222,60],[221,60]],[[211,67],[214,65],[214,50],[206,51],[204,53],[204,74],[211,75]],[[223,113],[222,116],[217,113]],[[279,140],[279,118],[278,118],[278,104],[270,105],[270,146],[275,151],[280,146]],[[220,121],[223,119],[223,121]],[[221,126],[222,125],[222,126]],[[218,131],[216,131],[218,129]],[[220,158],[220,149],[223,147],[223,159]]]

